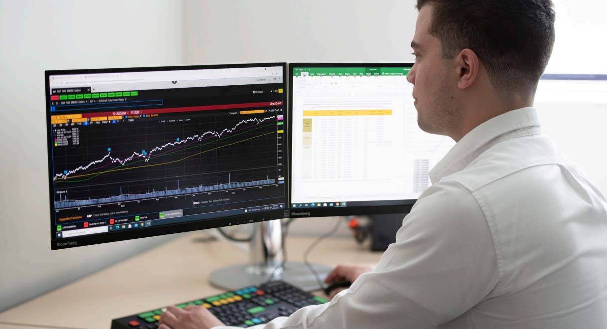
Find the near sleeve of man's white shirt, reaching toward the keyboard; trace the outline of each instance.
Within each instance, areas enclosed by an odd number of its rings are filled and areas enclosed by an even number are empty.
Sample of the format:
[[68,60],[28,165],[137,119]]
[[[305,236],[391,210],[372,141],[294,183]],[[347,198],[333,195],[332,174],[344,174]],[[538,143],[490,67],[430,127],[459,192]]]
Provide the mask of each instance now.
[[327,304],[253,328],[432,328],[489,297],[498,280],[480,205],[458,183],[439,182],[418,199],[373,271]]

